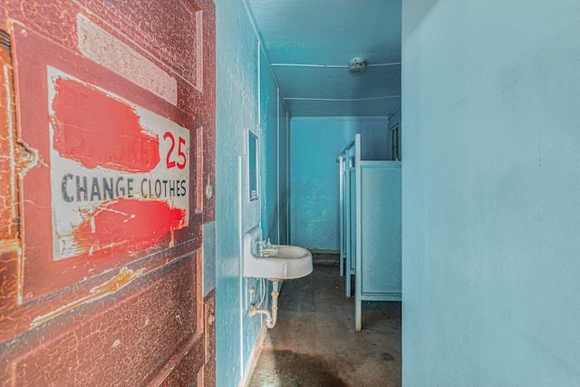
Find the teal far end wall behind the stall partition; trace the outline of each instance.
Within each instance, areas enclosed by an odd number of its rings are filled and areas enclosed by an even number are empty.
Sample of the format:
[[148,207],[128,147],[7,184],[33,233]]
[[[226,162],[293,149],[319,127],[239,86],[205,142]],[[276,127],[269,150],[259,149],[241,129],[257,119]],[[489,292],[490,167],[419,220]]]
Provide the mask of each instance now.
[[339,250],[336,158],[362,133],[362,158],[387,160],[386,117],[292,118],[290,121],[290,240],[293,245]]

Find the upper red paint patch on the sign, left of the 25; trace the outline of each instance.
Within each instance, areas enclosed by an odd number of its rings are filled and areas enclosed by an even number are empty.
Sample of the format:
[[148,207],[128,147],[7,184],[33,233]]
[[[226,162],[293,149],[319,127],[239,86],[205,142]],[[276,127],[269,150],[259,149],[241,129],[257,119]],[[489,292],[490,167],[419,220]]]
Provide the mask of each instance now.
[[60,156],[88,169],[150,172],[155,168],[160,161],[159,138],[141,126],[134,108],[87,83],[59,75],[53,78],[49,83],[54,91],[53,148]]

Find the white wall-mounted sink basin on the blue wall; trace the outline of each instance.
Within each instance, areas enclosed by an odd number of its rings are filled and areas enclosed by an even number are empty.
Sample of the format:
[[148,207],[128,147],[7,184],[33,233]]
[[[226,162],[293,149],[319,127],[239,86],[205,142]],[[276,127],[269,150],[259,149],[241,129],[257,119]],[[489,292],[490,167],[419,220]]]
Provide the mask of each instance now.
[[262,229],[256,226],[244,236],[244,276],[271,280],[292,279],[312,273],[312,254],[304,247],[272,245],[270,256],[257,256],[256,242]]

